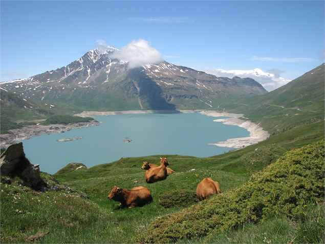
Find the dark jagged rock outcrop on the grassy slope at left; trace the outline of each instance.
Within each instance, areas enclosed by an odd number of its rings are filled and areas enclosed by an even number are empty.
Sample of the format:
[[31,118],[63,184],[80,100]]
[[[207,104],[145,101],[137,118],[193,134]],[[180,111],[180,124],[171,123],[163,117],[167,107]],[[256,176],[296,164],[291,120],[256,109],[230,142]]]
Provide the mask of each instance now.
[[11,177],[18,176],[25,186],[39,190],[46,187],[40,177],[39,165],[33,165],[26,158],[23,143],[9,146],[0,157],[0,174]]

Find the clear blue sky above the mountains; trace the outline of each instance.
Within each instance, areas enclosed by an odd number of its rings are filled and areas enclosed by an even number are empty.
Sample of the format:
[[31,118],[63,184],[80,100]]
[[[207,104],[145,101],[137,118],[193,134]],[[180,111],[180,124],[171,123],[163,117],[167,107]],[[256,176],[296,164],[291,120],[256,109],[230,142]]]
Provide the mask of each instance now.
[[[1,80],[60,68],[95,48],[145,39],[199,70],[284,71],[323,62],[323,1],[1,1]],[[322,53],[322,54],[321,54]]]

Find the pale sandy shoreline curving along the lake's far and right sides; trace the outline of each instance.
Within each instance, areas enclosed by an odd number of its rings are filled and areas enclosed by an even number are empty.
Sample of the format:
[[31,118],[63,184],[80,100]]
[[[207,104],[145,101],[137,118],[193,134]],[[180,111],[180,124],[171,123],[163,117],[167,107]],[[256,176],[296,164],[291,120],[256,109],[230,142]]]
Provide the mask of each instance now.
[[270,136],[270,134],[263,130],[262,127],[256,125],[255,123],[241,119],[243,114],[235,114],[228,112],[218,112],[210,110],[128,110],[128,111],[107,111],[107,112],[97,112],[97,111],[83,111],[82,113],[75,114],[76,116],[88,117],[96,115],[117,115],[117,114],[144,114],[144,113],[200,113],[211,117],[229,117],[214,119],[215,122],[221,122],[225,125],[234,125],[245,128],[249,131],[248,137],[231,138],[226,141],[219,141],[217,143],[210,143],[209,145],[214,145],[218,147],[227,148],[243,148],[259,141],[265,140]]

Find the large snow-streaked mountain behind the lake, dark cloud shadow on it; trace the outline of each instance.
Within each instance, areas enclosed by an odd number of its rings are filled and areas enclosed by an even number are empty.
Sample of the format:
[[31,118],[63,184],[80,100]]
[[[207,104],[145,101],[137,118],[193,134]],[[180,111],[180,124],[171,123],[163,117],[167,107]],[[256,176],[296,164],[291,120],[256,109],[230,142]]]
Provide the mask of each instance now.
[[168,62],[128,69],[111,58],[117,49],[94,49],[62,68],[0,86],[17,95],[75,110],[218,109],[267,91],[251,78],[216,77]]

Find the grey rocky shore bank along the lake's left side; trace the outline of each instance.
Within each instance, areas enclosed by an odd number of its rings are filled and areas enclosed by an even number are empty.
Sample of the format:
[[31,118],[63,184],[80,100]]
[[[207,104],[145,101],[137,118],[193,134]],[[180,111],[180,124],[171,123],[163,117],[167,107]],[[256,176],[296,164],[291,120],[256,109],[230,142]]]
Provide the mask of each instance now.
[[0,135],[0,147],[7,148],[9,145],[14,144],[16,141],[26,140],[36,135],[48,135],[52,133],[62,133],[72,129],[98,126],[100,123],[96,120],[90,120],[80,123],[71,124],[55,124],[55,125],[33,125],[25,126],[20,129],[9,130],[7,134]]

